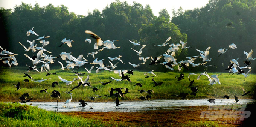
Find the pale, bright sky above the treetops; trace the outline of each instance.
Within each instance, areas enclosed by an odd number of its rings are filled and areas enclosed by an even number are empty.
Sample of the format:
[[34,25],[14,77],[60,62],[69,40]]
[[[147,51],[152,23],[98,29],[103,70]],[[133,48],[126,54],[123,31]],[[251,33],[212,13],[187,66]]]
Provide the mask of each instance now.
[[[34,7],[35,3],[38,3],[40,7],[47,6],[49,3],[54,7],[63,4],[68,7],[69,12],[74,12],[77,15],[87,16],[87,12],[92,12],[94,9],[98,9],[100,12],[111,2],[115,0],[0,0],[0,7],[5,9],[14,9],[15,5],[20,5],[21,2],[31,4]],[[158,12],[162,9],[166,9],[169,15],[172,17],[172,10],[178,10],[180,7],[183,10],[191,10],[194,8],[204,7],[209,0],[119,0],[121,2],[127,1],[132,5],[133,1],[142,4],[145,7],[147,4],[151,7],[155,16],[159,16]]]

